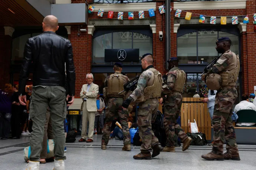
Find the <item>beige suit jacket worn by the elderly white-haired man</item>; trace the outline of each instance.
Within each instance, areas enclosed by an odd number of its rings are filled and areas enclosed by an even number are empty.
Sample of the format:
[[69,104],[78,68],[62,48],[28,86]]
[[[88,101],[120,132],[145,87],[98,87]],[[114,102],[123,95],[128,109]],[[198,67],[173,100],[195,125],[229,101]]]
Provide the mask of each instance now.
[[[89,88],[89,91],[87,91],[87,86],[88,84],[84,84],[80,92],[80,98],[82,98],[82,100],[86,98],[86,102],[82,103],[81,110],[83,108],[83,105],[86,104],[86,108],[88,112],[96,112],[97,111],[96,99],[99,92],[99,86],[92,83],[91,87]],[[86,93],[83,94],[83,92],[86,92]]]

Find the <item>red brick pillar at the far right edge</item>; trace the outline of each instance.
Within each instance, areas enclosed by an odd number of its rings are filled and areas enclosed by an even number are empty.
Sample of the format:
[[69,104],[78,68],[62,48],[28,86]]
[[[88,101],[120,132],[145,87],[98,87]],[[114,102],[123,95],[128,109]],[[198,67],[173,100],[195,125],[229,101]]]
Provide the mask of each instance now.
[[[256,2],[255,0],[247,0],[246,1],[246,14],[254,14],[256,13]],[[252,15],[249,17],[251,18]],[[254,25],[253,22],[250,21],[247,24],[246,28],[246,43],[247,43],[247,77],[248,77],[248,93],[253,93],[254,92],[254,86],[256,85],[256,49],[255,49],[255,40],[256,40],[256,33],[253,29]],[[245,50],[244,50],[245,51]],[[245,57],[244,57],[245,58]],[[246,63],[246,62],[244,62]],[[246,72],[244,72],[244,76],[246,77]],[[246,88],[246,87],[245,87]],[[247,94],[248,94],[247,93]]]

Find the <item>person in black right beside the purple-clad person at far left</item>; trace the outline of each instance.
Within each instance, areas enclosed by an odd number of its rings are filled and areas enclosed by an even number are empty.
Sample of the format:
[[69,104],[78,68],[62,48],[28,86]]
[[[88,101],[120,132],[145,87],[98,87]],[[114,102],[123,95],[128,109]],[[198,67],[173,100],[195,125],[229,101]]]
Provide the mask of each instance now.
[[11,118],[11,139],[20,139],[21,134],[21,118],[25,106],[20,105],[19,102],[19,85],[13,86],[13,98],[12,98],[12,118]]

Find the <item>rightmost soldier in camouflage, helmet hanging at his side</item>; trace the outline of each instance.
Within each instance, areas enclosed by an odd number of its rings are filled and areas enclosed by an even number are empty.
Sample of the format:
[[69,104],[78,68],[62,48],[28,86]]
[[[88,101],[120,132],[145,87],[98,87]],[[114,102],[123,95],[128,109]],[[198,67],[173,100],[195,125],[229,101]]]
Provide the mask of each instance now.
[[[208,154],[202,155],[202,158],[206,160],[240,160],[236,144],[236,133],[231,117],[232,106],[237,98],[235,85],[240,63],[239,57],[230,51],[231,44],[232,42],[228,37],[222,37],[216,41],[216,50],[222,55],[216,64],[202,76],[202,80],[204,80],[209,74],[219,74],[223,79],[221,88],[216,93],[212,120],[214,128],[213,150]],[[224,139],[227,142],[227,152],[223,155]]]

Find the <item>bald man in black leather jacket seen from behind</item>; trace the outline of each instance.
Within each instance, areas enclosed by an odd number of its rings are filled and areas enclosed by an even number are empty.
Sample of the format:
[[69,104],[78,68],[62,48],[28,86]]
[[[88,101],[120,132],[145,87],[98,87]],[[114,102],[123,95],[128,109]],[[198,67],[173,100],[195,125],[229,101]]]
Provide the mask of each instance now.
[[[25,44],[24,61],[20,72],[19,101],[26,105],[25,86],[29,68],[33,72],[33,91],[30,98],[30,118],[33,120],[33,132],[30,137],[31,154],[26,170],[39,170],[40,152],[44,135],[46,110],[49,106],[54,140],[54,170],[64,170],[64,119],[66,118],[66,100],[75,98],[75,66],[72,45],[69,40],[60,37],[58,18],[46,16],[43,20],[43,34],[29,38]],[[68,81],[68,96],[65,97],[65,63]],[[64,112],[63,112],[64,111]]]

